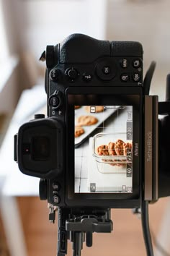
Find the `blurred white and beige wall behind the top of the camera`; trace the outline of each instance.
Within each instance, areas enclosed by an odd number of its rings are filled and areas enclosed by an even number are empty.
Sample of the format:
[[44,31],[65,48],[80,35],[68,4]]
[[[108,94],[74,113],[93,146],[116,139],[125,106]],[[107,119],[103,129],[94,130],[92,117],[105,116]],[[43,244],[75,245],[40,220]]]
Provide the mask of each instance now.
[[1,0],[1,42],[6,41],[1,51],[19,58],[14,80],[20,91],[42,82],[45,64],[38,59],[46,45],[56,44],[71,33],[106,40],[139,40],[145,69],[151,60],[157,61],[151,93],[164,98],[159,88],[169,72],[169,7],[169,0]]

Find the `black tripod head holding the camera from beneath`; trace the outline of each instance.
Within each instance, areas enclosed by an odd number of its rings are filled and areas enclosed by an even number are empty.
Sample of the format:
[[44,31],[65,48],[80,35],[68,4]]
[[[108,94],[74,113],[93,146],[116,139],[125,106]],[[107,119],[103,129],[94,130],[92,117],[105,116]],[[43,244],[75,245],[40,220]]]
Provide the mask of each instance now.
[[73,243],[73,256],[80,256],[83,242],[92,246],[92,235],[110,233],[110,209],[58,209],[58,256],[67,254],[67,240]]

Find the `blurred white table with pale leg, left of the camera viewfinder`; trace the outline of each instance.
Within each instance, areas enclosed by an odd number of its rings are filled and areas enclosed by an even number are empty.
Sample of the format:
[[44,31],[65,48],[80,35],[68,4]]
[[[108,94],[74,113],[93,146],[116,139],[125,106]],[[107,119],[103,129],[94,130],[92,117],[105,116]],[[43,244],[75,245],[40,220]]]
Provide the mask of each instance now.
[[22,174],[14,162],[14,135],[45,105],[46,95],[42,85],[24,90],[0,148],[0,181],[4,181],[1,186],[1,216],[11,256],[27,256],[16,197],[39,195],[39,179]]

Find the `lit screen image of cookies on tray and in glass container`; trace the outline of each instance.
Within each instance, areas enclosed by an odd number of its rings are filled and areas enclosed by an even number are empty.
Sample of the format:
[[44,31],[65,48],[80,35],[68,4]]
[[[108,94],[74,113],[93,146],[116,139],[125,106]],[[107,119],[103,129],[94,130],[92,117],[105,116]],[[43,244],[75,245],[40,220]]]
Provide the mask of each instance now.
[[133,192],[133,106],[74,106],[75,193]]

